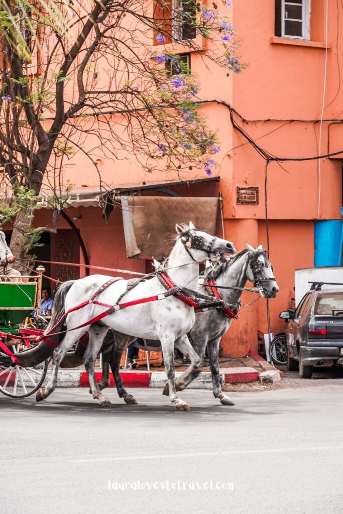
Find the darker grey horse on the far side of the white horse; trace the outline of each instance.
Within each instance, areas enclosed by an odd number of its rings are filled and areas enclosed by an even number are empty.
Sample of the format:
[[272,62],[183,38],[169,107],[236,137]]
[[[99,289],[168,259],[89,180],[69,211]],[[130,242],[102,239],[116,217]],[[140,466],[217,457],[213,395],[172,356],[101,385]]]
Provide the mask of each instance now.
[[[237,289],[220,289],[220,294],[225,301],[225,306],[229,307],[233,313],[237,313],[240,306],[240,297],[247,281],[260,288],[264,298],[275,298],[279,287],[276,283],[273,268],[267,259],[262,247],[254,248],[247,244],[247,249],[242,250],[230,259],[224,259],[220,263],[214,263],[213,268],[207,268],[204,276],[200,276],[200,283],[204,284],[206,279],[212,276],[217,286],[236,287]],[[201,293],[208,294],[206,285],[199,287]],[[230,398],[223,393],[219,378],[219,347],[222,336],[228,331],[232,323],[232,318],[223,315],[221,308],[201,311],[195,314],[195,323],[189,331],[192,346],[196,354],[200,357],[194,365],[175,380],[176,391],[182,391],[194,380],[203,368],[206,346],[212,374],[213,394],[219,398],[223,405],[234,405]],[[114,333],[113,353],[108,357],[108,362],[115,376],[116,387],[120,397],[127,395],[123,388],[119,374],[119,363],[124,347],[128,344],[128,339],[122,334]],[[135,338],[132,338],[132,342]],[[190,354],[183,352],[190,357]],[[103,389],[109,385],[109,366],[103,364],[103,378],[100,382]],[[164,394],[169,394],[169,384],[166,384]]]

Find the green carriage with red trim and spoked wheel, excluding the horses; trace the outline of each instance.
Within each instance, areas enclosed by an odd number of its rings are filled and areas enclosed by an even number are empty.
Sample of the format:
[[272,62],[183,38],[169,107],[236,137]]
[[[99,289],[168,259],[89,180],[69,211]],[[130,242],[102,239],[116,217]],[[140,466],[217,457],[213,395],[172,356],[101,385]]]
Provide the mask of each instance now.
[[47,360],[24,367],[16,357],[30,350],[43,332],[30,318],[40,309],[42,276],[0,280],[0,393],[24,398],[41,387],[48,367]]

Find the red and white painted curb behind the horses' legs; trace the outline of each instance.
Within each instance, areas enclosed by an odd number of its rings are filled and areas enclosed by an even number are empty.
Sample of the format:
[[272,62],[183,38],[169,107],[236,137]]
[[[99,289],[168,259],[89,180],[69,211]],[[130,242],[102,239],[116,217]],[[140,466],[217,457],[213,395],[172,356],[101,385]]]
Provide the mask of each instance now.
[[[277,377],[274,373],[274,380],[277,381],[282,378],[282,373],[275,370],[271,364],[265,361],[258,354],[250,353],[249,357],[254,358],[261,365],[262,372],[257,371],[255,368],[248,368],[242,366],[241,368],[222,368],[220,370],[221,383],[242,383],[242,382],[256,382],[260,379],[263,380],[264,372],[278,372]],[[182,372],[175,373],[175,378],[179,377]],[[167,376],[164,371],[121,371],[120,372],[124,387],[137,387],[137,388],[163,388],[167,383]],[[101,380],[101,371],[96,372],[98,382]],[[268,381],[268,380],[265,380]],[[270,380],[269,380],[270,381]],[[58,374],[58,387],[89,387],[88,377],[85,371],[79,370],[60,370]],[[115,387],[113,375],[110,375],[110,387]],[[212,389],[212,377],[210,372],[202,372],[191,384],[193,389]]]

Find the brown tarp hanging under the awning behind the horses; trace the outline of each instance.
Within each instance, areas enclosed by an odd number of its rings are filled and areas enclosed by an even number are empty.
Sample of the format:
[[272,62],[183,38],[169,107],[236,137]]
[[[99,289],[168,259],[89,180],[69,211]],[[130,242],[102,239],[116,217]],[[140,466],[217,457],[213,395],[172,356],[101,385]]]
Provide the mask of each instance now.
[[166,258],[174,246],[176,223],[192,221],[198,230],[215,234],[218,204],[218,198],[122,197],[127,256]]

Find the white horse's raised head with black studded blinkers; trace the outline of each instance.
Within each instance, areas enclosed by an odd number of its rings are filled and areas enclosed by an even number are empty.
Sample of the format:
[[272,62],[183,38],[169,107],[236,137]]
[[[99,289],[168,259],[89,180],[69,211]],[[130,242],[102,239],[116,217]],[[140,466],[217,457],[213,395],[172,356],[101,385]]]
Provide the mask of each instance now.
[[236,251],[231,241],[196,230],[192,222],[189,222],[189,225],[177,224],[175,229],[193,261],[202,262],[213,256],[232,254]]

